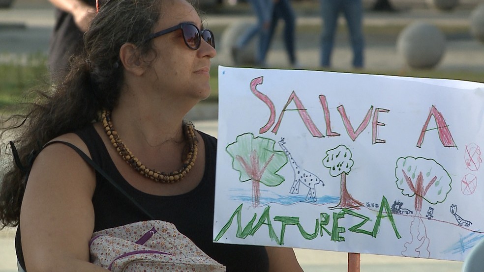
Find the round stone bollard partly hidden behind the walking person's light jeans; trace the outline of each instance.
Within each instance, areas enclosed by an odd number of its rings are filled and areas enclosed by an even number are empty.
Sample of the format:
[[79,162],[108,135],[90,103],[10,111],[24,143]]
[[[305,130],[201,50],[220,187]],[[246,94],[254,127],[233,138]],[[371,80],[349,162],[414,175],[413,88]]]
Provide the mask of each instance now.
[[237,48],[237,42],[240,37],[255,27],[254,23],[238,21],[226,27],[222,32],[221,48],[226,50],[223,54],[230,54],[230,59],[235,65],[252,65],[256,64],[256,46],[259,36],[256,34],[250,42],[243,48]]

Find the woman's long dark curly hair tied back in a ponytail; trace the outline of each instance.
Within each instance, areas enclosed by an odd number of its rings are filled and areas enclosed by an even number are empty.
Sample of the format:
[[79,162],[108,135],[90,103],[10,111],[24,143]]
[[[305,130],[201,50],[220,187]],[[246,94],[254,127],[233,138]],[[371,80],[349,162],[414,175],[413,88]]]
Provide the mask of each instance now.
[[[153,50],[145,39],[161,17],[161,8],[161,0],[110,0],[101,5],[84,34],[84,51],[71,58],[65,79],[50,90],[37,91],[34,102],[23,104],[25,113],[4,122],[9,125],[0,140],[15,144],[18,164],[26,167],[17,167],[8,156],[0,183],[0,229],[19,224],[28,169],[42,146],[96,121],[101,109],[116,106],[123,85],[121,46],[132,43],[140,55]],[[14,139],[4,139],[5,135]]]

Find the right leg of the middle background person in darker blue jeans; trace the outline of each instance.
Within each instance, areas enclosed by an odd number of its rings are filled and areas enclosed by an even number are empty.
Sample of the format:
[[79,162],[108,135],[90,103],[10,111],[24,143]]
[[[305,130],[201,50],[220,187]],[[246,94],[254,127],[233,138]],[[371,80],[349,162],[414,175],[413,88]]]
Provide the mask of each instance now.
[[289,57],[291,65],[296,64],[295,53],[295,27],[296,14],[289,0],[278,0],[274,5],[274,13],[278,18],[284,20],[284,46]]

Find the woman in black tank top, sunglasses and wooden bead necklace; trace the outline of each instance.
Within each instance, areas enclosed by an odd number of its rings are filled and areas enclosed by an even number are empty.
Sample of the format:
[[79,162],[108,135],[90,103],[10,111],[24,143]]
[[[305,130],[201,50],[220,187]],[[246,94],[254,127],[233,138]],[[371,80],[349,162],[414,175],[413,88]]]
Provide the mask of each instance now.
[[[216,52],[211,31],[201,28],[185,0],[101,6],[84,37],[85,56],[26,116],[18,164],[29,165],[51,140],[72,143],[227,271],[301,271],[291,248],[212,242],[216,140],[183,120],[210,94]],[[30,174],[10,169],[0,197],[1,223],[20,222],[17,251],[28,272],[102,271],[89,263],[92,232],[149,219],[60,143],[42,149]]]

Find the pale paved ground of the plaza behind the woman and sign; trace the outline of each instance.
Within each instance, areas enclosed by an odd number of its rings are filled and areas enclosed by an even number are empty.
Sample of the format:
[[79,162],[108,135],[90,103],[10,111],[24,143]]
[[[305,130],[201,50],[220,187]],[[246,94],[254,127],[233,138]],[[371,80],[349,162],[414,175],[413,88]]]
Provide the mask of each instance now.
[[[47,0],[17,0],[13,8],[0,9],[0,61],[19,59],[19,55],[35,52],[47,53],[50,31],[53,26],[53,10]],[[484,71],[484,44],[473,39],[469,32],[469,15],[478,2],[483,0],[461,0],[461,7],[451,12],[429,9],[424,0],[392,0],[399,10],[396,13],[365,11],[366,69],[370,71],[402,71],[408,69],[396,51],[399,31],[417,20],[432,23],[445,31],[446,53],[436,70]],[[299,3],[299,2],[298,2]],[[369,6],[372,0],[364,0]],[[316,68],[319,56],[319,31],[321,19],[311,6],[295,4],[298,12],[297,54],[304,68]],[[207,14],[208,26],[215,30],[218,56],[214,65],[232,65],[229,50],[222,42],[226,27],[240,22],[254,22],[254,18],[238,9]],[[389,31],[389,29],[393,29]],[[281,42],[281,33],[276,33],[268,55],[268,66],[288,67]],[[336,39],[333,53],[335,69],[351,71],[351,50],[344,31]],[[190,116],[197,116],[198,129],[217,134],[216,106],[197,107]],[[16,271],[13,231],[0,232],[0,272]],[[298,260],[305,272],[346,271],[347,254],[321,250],[296,249]],[[362,254],[363,272],[458,272],[461,262],[437,261],[415,258],[377,256]]]

